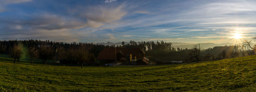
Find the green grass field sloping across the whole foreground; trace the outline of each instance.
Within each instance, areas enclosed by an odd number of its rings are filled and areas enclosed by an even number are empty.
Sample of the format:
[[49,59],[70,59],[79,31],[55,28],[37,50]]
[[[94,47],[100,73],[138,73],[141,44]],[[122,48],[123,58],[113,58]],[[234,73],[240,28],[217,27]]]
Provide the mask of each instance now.
[[161,66],[29,64],[0,57],[0,91],[256,91],[256,55]]

